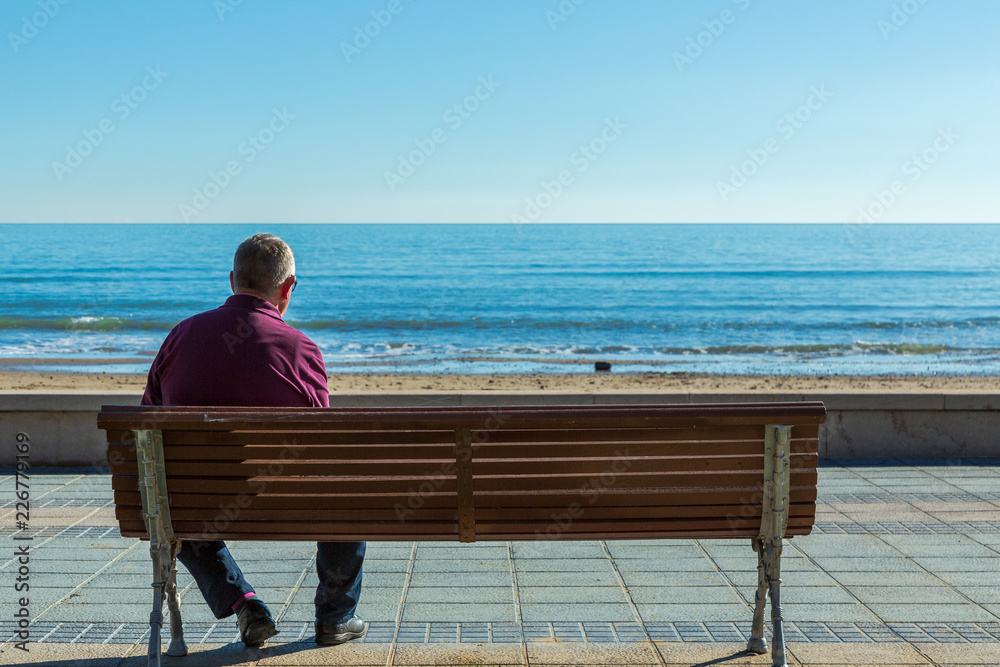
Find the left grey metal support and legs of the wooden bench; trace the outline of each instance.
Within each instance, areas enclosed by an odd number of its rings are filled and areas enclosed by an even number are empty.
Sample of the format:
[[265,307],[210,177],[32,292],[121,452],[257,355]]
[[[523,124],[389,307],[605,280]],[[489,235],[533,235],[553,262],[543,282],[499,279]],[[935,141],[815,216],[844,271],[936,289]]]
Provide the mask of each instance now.
[[150,667],[160,666],[160,630],[163,628],[163,599],[170,610],[169,656],[187,655],[181,609],[177,600],[177,554],[181,543],[174,538],[167,501],[166,468],[163,460],[163,434],[160,431],[134,431],[136,459],[139,464],[139,494],[149,533],[149,555],[153,559],[153,611],[149,615]]

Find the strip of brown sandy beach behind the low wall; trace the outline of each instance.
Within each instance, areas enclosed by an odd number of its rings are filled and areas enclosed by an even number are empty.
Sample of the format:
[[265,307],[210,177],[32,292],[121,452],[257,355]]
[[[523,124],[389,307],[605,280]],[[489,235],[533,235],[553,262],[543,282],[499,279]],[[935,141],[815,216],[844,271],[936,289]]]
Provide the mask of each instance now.
[[[141,392],[145,375],[54,373],[29,369],[0,370],[0,391]],[[552,391],[552,392],[872,392],[996,393],[995,376],[807,376],[709,375],[696,373],[566,374],[331,374],[330,391]]]

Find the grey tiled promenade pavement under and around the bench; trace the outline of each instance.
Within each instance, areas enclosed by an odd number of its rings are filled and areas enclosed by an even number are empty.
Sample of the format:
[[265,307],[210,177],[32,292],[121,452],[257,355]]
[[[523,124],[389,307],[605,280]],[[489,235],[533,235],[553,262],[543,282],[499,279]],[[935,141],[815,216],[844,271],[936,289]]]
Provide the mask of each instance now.
[[[1000,460],[824,461],[813,534],[786,542],[789,664],[1000,664]],[[35,469],[15,541],[0,469],[0,664],[144,665],[146,543],[118,534],[110,476]],[[30,593],[15,592],[30,545]],[[312,642],[315,547],[234,543],[281,634],[243,648],[180,568],[192,655],[174,665],[769,665],[741,654],[749,540],[369,543],[364,641]],[[28,652],[14,646],[29,597]],[[166,632],[165,632],[165,636]],[[770,636],[770,635],[768,635]]]

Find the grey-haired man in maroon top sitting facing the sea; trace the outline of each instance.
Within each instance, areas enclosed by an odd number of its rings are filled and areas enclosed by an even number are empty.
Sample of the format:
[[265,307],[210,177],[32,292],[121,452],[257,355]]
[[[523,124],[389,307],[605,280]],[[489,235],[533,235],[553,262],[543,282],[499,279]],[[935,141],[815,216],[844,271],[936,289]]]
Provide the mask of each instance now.
[[[184,320],[167,335],[142,404],[329,407],[319,348],[282,319],[298,284],[291,248],[271,234],[248,238],[236,250],[229,282],[233,296],[221,307]],[[235,612],[244,644],[260,646],[278,633],[224,542],[181,544],[178,558],[212,613],[225,618]],[[364,635],[367,624],[354,613],[364,555],[364,542],[317,545],[317,644]]]

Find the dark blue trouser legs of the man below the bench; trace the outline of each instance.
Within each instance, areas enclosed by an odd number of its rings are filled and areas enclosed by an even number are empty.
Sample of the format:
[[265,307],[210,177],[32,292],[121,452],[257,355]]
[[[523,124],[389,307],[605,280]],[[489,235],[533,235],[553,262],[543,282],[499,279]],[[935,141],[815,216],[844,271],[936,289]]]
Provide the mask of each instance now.
[[[361,598],[361,566],[365,542],[319,542],[316,547],[316,620],[339,623],[354,615]],[[198,584],[216,618],[233,613],[233,605],[253,587],[221,540],[181,542],[177,559]]]

